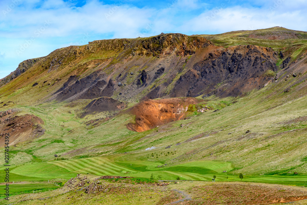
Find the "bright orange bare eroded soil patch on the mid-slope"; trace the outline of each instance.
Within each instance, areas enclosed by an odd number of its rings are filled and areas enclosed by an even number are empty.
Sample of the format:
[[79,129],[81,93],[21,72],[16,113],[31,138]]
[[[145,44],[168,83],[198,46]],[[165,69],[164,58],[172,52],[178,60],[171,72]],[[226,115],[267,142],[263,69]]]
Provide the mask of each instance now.
[[161,100],[144,100],[128,110],[135,115],[135,124],[127,124],[127,128],[136,132],[150,130],[157,126],[183,120],[190,104],[198,104],[202,100],[195,98],[171,98]]

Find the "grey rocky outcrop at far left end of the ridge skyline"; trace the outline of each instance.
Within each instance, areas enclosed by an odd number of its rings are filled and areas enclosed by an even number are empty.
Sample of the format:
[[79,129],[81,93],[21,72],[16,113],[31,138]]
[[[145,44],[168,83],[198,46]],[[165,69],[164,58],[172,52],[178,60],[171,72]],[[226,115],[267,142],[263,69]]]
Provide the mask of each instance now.
[[22,73],[24,73],[26,70],[31,68],[31,66],[33,66],[35,63],[37,63],[38,61],[40,61],[43,58],[44,57],[33,58],[33,59],[28,59],[28,60],[22,61],[21,63],[19,63],[19,65],[18,65],[18,67],[15,71],[13,71],[12,73],[10,73],[10,75],[8,75],[5,78],[2,78],[0,80],[0,86],[5,85],[5,84],[9,83],[10,81],[14,80],[16,77],[20,76]]

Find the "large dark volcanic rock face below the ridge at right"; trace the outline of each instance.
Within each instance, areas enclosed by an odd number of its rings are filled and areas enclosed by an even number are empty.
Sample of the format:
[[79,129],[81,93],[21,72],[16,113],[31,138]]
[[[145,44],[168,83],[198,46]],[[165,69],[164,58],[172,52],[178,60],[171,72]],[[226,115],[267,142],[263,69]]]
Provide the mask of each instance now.
[[269,79],[262,75],[278,69],[276,59],[273,49],[254,45],[216,49],[181,75],[170,97],[241,96],[263,87]]

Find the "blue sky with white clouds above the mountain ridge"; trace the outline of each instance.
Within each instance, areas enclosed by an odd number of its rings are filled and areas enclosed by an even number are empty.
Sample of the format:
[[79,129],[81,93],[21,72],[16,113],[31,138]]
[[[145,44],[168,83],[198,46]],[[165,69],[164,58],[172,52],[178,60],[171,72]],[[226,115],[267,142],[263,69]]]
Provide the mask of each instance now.
[[274,26],[307,31],[306,10],[305,0],[1,0],[0,79],[21,61],[100,39]]

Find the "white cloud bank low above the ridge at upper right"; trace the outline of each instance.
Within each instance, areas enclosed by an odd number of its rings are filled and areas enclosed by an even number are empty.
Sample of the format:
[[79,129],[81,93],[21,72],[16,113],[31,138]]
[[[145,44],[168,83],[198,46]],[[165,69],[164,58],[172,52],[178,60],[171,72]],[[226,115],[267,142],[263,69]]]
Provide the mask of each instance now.
[[[204,12],[186,22],[181,30],[192,32],[223,33],[234,30],[255,30],[282,26],[289,29],[305,30],[307,15],[300,11],[279,13],[269,8],[243,8],[235,6]],[[294,23],[295,22],[295,23]]]

